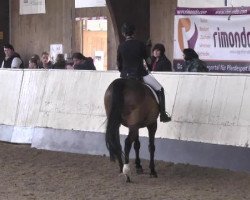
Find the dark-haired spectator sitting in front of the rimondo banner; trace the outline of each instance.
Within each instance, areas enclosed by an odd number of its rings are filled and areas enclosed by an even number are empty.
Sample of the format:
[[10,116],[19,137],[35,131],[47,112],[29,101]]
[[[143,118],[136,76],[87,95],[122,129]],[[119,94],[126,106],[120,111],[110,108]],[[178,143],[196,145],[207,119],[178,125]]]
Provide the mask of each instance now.
[[207,64],[199,59],[195,50],[188,48],[183,50],[183,71],[186,72],[208,72]]

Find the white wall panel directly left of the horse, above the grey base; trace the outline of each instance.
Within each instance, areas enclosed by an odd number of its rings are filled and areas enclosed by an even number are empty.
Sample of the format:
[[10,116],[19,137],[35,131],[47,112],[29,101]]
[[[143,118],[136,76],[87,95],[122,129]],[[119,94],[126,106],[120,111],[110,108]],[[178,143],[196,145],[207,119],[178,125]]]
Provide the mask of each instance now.
[[103,97],[115,77],[117,73],[51,71],[37,126],[103,132]]

